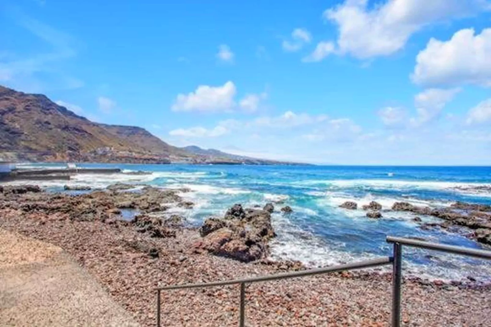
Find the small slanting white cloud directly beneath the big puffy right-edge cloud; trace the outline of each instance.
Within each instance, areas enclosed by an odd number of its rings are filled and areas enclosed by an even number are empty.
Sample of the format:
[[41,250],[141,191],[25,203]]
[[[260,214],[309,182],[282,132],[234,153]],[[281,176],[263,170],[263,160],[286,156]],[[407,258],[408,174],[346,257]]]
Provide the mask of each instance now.
[[436,118],[445,105],[461,91],[460,88],[429,88],[414,97],[417,117],[411,118],[413,126],[419,126]]

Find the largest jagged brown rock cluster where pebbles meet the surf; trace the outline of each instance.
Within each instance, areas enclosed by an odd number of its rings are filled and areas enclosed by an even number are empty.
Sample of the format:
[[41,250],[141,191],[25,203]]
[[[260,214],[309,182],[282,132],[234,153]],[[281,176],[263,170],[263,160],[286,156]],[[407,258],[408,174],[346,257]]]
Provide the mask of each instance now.
[[268,241],[275,233],[269,211],[236,204],[224,218],[206,219],[200,235],[203,240],[194,245],[195,250],[250,262],[268,255]]

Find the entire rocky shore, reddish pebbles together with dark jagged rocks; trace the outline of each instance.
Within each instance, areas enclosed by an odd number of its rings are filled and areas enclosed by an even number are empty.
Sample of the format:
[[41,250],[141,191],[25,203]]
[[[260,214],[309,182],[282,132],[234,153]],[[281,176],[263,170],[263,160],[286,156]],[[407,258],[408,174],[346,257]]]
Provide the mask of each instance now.
[[[300,263],[268,260],[269,241],[275,237],[271,212],[278,210],[272,204],[235,205],[224,217],[208,218],[198,229],[167,213],[172,206],[193,206],[182,196],[186,191],[122,184],[83,194],[47,193],[36,186],[0,187],[0,227],[65,249],[142,326],[155,324],[153,289],[158,285],[304,269]],[[288,215],[291,208],[285,208],[279,211]],[[453,208],[488,210],[463,204]],[[372,203],[366,208],[380,209]],[[124,220],[125,210],[134,217]],[[374,272],[248,285],[247,325],[388,326],[390,287],[390,275]],[[471,280],[406,278],[402,319],[405,326],[485,326],[491,316],[490,295],[489,286]],[[235,285],[163,292],[162,325],[236,326],[238,302]]]

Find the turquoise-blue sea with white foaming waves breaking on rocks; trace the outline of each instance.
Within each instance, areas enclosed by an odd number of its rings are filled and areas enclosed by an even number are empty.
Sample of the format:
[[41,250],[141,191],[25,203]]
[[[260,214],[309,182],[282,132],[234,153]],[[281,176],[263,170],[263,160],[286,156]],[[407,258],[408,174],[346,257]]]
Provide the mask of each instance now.
[[[39,166],[39,165],[35,165]],[[43,166],[47,166],[43,164]],[[55,166],[55,165],[48,165]],[[183,196],[195,202],[192,210],[172,208],[191,224],[220,216],[234,203],[245,206],[278,202],[294,212],[275,212],[278,237],[272,257],[301,260],[309,266],[349,262],[388,255],[386,235],[425,238],[431,242],[482,248],[465,237],[468,230],[424,230],[409,213],[384,212],[369,219],[362,210],[338,208],[347,200],[361,207],[375,200],[389,209],[395,201],[424,206],[448,206],[455,201],[491,204],[491,191],[475,187],[491,185],[491,167],[390,167],[390,166],[252,166],[252,165],[138,165],[80,164],[82,167],[119,167],[144,170],[151,175],[78,175],[70,184],[104,188],[116,182],[145,183],[165,188],[191,189]],[[44,182],[61,191],[65,182]],[[431,222],[436,218],[421,217]],[[489,262],[426,250],[405,250],[407,273],[432,278],[461,279],[473,275],[491,279]]]

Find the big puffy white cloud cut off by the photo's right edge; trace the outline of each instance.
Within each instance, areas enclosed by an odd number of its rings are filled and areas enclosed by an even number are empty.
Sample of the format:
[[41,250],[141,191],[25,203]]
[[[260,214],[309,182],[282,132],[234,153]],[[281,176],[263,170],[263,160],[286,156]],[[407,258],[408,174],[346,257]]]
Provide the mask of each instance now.
[[478,84],[491,86],[491,28],[457,31],[450,40],[431,38],[416,56],[413,82],[425,85]]

